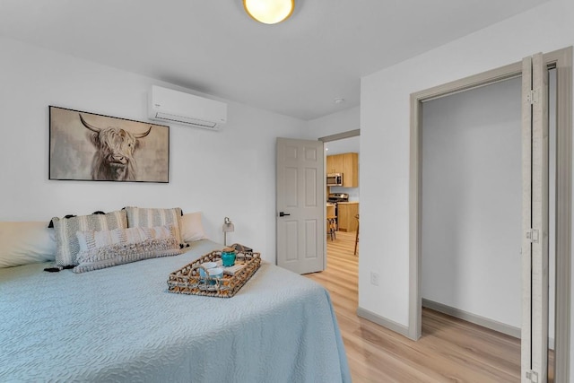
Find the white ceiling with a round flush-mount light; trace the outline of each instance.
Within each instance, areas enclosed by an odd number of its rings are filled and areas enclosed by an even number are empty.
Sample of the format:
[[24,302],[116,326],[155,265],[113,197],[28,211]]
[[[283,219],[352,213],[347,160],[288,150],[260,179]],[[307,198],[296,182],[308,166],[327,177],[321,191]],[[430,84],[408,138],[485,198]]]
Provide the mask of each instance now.
[[295,0],[265,25],[240,0],[0,0],[0,35],[307,120],[359,105],[361,76],[546,1]]

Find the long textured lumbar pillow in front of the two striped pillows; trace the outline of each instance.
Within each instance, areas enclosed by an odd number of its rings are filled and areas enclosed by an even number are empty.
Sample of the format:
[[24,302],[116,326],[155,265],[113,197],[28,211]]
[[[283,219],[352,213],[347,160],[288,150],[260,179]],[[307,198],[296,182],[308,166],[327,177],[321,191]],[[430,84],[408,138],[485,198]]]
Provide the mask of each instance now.
[[74,273],[181,254],[174,225],[153,228],[77,231],[80,243]]

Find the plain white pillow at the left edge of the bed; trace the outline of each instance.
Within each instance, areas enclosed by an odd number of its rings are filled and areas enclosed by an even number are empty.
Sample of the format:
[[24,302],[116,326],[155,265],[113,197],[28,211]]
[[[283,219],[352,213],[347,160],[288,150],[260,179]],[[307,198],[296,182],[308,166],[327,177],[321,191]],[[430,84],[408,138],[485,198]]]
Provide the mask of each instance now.
[[48,222],[0,222],[0,268],[55,258],[56,239]]

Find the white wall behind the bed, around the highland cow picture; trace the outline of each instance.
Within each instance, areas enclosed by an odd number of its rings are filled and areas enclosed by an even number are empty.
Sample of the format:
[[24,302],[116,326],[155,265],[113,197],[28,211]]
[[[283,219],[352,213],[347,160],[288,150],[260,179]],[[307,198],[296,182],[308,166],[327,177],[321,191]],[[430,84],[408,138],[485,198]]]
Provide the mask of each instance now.
[[305,121],[229,101],[221,132],[170,127],[168,184],[48,180],[48,105],[147,121],[151,84],[189,90],[12,39],[0,38],[0,50],[0,220],[180,206],[202,211],[208,236],[220,242],[229,216],[228,241],[274,262],[275,138],[305,135]]

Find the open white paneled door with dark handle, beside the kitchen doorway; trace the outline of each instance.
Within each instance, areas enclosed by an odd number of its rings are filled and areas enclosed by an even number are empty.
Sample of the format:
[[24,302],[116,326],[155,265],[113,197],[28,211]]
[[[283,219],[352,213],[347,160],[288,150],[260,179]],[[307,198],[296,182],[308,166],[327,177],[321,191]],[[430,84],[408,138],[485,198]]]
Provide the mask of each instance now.
[[325,269],[325,154],[321,141],[277,138],[277,265]]

